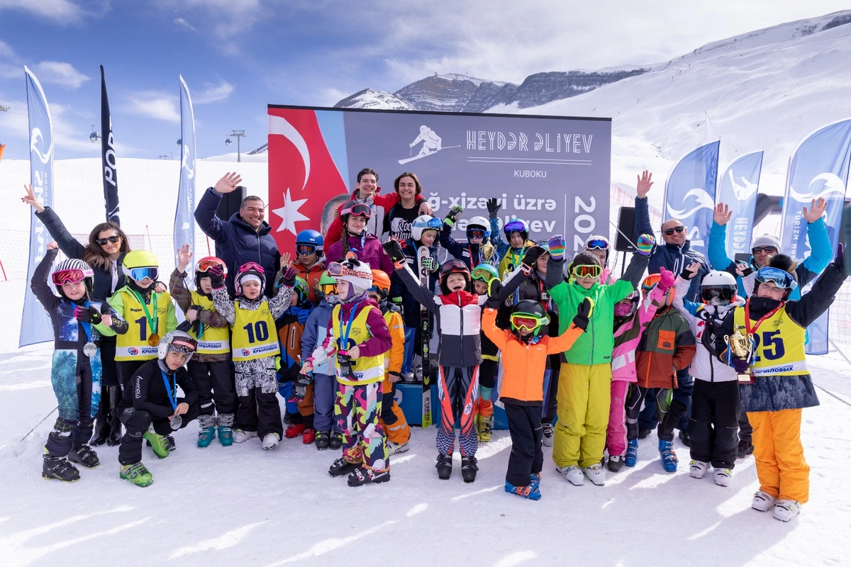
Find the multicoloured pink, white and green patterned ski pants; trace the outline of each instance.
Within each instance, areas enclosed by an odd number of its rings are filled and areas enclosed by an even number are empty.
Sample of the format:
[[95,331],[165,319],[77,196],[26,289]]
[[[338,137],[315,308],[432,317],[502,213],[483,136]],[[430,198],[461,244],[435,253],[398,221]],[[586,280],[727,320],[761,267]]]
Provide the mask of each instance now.
[[334,417],[343,432],[343,456],[374,471],[390,468],[381,428],[381,383],[344,384],[337,391]]

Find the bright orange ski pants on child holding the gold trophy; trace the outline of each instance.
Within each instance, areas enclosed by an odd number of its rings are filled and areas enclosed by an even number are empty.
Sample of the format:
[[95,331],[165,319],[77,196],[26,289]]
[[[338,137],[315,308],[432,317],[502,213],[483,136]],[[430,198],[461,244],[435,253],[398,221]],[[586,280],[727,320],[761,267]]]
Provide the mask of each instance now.
[[809,500],[809,465],[801,445],[801,410],[749,411],[759,490],[801,504]]

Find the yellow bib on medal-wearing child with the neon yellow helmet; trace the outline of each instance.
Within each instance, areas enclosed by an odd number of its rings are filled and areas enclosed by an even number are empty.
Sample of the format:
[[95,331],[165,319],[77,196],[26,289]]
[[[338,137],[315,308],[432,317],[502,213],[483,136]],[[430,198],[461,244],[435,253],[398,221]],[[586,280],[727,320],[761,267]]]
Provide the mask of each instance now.
[[148,344],[148,337],[152,332],[157,332],[157,335],[162,338],[168,332],[166,315],[168,315],[168,305],[171,304],[171,295],[168,292],[156,293],[157,295],[157,314],[151,313],[153,309],[153,296],[151,293],[151,303],[146,303],[148,313],[156,320],[156,329],[151,330],[148,325],[145,310],[142,309],[142,304],[136,298],[134,292],[127,288],[119,290],[118,293],[123,294],[124,312],[118,315],[126,320],[129,328],[123,335],[117,335],[115,347],[115,360],[151,360],[157,358],[157,347],[152,347]]

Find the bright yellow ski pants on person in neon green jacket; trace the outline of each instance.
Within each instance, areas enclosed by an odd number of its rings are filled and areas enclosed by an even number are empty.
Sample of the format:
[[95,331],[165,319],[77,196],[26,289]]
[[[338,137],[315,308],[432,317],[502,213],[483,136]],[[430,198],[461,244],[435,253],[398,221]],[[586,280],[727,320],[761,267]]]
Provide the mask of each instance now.
[[558,468],[590,467],[603,458],[612,366],[562,363],[558,378],[558,421],[552,460]]

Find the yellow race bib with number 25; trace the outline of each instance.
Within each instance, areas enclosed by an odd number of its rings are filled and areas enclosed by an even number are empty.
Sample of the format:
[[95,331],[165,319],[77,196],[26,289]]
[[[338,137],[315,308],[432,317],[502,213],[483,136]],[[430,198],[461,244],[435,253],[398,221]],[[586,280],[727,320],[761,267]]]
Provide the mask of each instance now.
[[[737,307],[734,312],[734,328],[747,334],[745,308]],[[757,321],[751,321],[751,326]],[[809,374],[807,356],[803,344],[806,329],[799,326],[786,314],[785,306],[777,309],[762,321],[752,337],[757,343],[757,352],[751,362],[755,376],[798,376]]]

